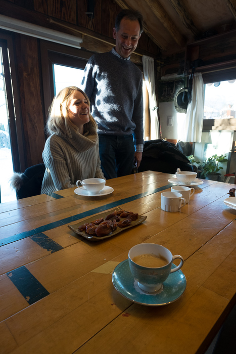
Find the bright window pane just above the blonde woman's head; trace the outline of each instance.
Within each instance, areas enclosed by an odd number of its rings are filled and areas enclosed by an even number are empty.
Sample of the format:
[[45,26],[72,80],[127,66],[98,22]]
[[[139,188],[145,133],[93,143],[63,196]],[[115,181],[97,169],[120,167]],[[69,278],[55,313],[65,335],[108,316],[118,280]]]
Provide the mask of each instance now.
[[54,79],[56,95],[67,86],[80,87],[83,69],[54,64]]

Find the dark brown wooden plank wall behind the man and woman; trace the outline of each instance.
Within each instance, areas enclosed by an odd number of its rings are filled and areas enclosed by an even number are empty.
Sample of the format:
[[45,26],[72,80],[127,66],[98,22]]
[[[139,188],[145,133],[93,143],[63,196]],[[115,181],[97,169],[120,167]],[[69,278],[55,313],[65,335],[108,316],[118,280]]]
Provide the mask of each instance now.
[[[95,1],[95,17],[87,12],[87,0],[0,0],[0,13],[69,34],[84,33],[81,48],[88,52],[106,52],[114,46],[112,29],[121,9],[113,0]],[[2,30],[0,30],[2,31]],[[78,32],[80,31],[80,32]],[[1,34],[1,32],[0,32]],[[81,34],[80,34],[81,35]],[[44,100],[39,39],[12,32],[23,126],[25,166],[42,162],[45,143]],[[97,38],[97,39],[96,39]],[[143,33],[131,59],[141,65],[141,55],[156,58],[159,48]],[[23,171],[24,168],[21,167]]]

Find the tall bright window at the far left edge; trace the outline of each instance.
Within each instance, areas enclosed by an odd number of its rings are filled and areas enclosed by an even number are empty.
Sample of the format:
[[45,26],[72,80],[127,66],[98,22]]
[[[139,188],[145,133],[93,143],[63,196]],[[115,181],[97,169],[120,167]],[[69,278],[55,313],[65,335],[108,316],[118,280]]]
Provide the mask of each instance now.
[[[24,170],[21,120],[16,93],[16,74],[14,71],[14,51],[10,35],[0,32],[0,202],[16,200],[16,193],[9,180],[13,170]],[[11,61],[11,63],[10,63]],[[22,154],[21,156],[24,156]]]

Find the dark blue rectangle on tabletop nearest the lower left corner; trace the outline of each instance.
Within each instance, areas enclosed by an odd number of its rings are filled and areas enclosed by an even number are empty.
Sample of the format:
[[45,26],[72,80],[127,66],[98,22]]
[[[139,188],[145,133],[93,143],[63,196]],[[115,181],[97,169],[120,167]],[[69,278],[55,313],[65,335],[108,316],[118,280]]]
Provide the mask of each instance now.
[[30,305],[50,294],[24,265],[8,272],[7,276]]

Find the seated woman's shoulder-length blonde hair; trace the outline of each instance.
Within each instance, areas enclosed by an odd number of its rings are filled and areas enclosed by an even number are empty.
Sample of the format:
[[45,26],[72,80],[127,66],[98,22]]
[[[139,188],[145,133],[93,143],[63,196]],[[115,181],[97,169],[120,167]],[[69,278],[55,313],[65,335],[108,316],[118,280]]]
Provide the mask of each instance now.
[[[71,128],[78,131],[78,127],[73,124],[68,116],[69,99],[75,91],[81,92],[90,107],[90,101],[87,95],[76,86],[68,86],[61,90],[53,99],[51,106],[49,107],[49,119],[46,125],[48,133],[67,136],[71,138]],[[91,124],[96,129],[98,128],[95,119],[89,114],[89,122],[84,124]]]

